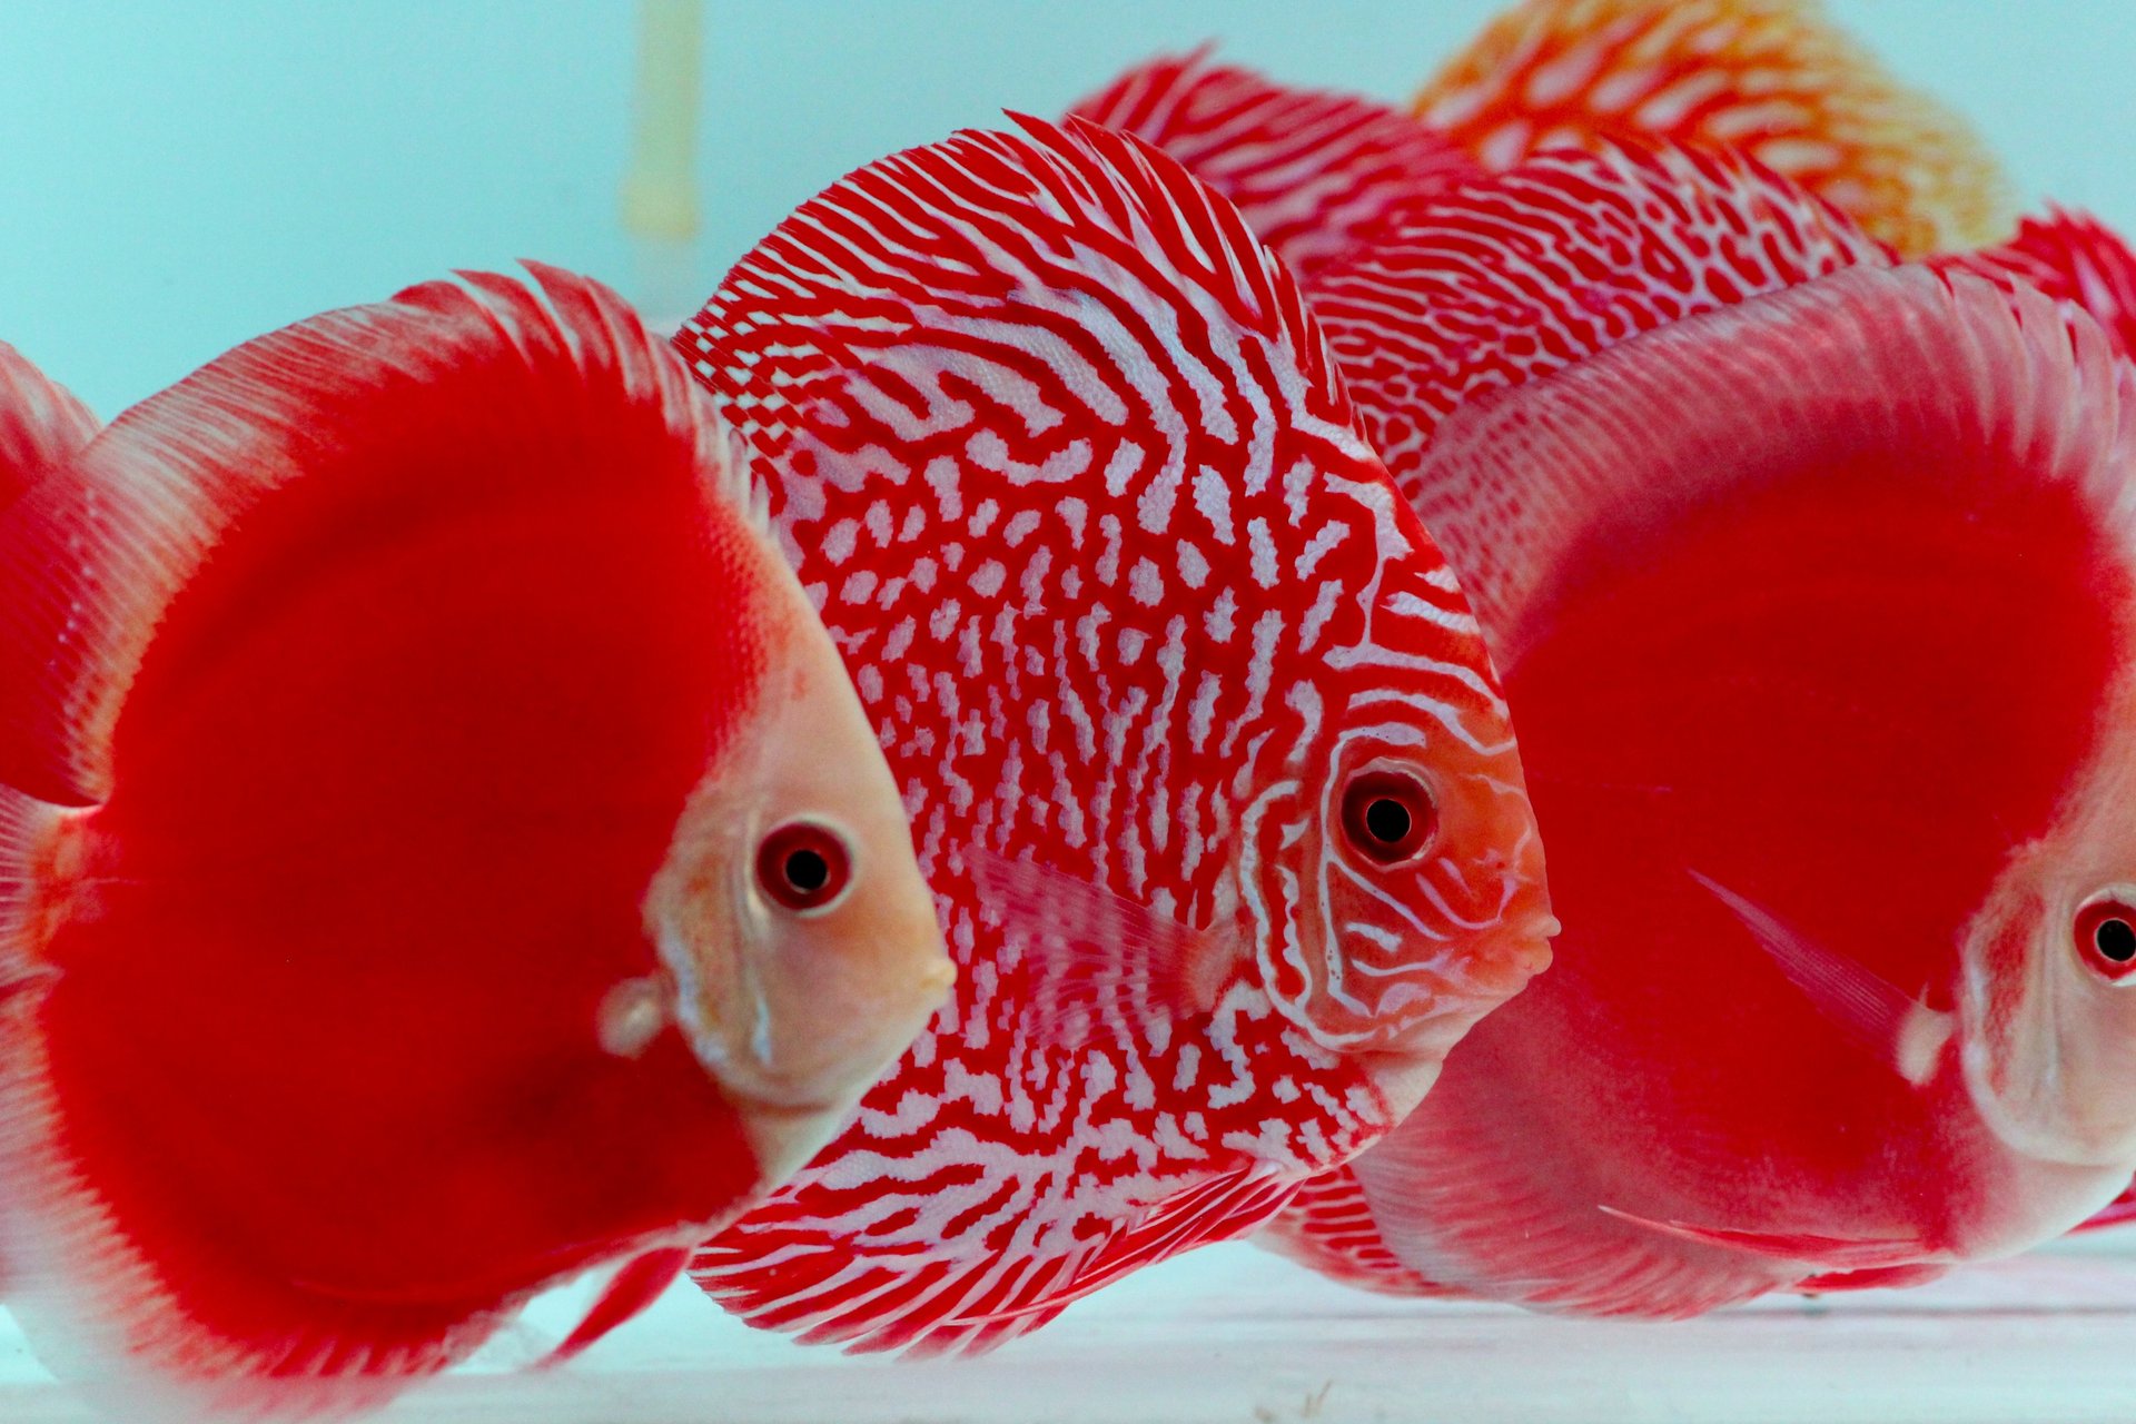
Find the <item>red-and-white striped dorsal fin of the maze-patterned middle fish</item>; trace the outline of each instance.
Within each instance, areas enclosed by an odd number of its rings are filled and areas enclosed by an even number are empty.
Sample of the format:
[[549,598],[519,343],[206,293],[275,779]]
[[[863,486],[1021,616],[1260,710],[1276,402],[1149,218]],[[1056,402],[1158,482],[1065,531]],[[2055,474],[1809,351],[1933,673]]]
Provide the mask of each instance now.
[[[767,453],[797,421],[827,433],[837,423],[827,397],[857,371],[882,367],[914,331],[948,348],[1012,337],[991,316],[1004,305],[1066,312],[1081,327],[1117,320],[1115,305],[1207,303],[1222,327],[1297,367],[1316,414],[1348,421],[1297,280],[1237,207],[1126,135],[1010,117],[1023,132],[963,130],[803,203],[675,333],[737,431]],[[1055,380],[1111,380],[1072,350],[1049,357]],[[1192,406],[1215,393],[1179,395]]]

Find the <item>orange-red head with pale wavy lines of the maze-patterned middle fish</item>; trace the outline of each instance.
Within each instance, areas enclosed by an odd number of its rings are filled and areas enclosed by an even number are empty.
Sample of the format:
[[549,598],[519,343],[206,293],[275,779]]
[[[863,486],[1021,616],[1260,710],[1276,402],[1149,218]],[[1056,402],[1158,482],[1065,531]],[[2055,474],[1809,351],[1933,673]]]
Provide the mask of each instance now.
[[[1290,681],[1301,728],[1241,818],[1269,997],[1401,1117],[1551,961],[1542,839],[1482,630],[1369,455],[1369,568]],[[1369,476],[1369,478],[1367,478]]]

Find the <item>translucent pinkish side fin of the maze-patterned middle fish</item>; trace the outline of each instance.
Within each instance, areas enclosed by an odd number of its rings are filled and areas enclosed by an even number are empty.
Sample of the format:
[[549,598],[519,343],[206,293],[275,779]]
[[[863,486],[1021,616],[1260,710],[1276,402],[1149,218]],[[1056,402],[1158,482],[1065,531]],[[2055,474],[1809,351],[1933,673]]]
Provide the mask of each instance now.
[[1106,1012],[1188,1018],[1215,1008],[1243,939],[1192,929],[1038,860],[968,848],[980,901],[1021,950],[1025,1023],[1040,1042],[1077,1046]]

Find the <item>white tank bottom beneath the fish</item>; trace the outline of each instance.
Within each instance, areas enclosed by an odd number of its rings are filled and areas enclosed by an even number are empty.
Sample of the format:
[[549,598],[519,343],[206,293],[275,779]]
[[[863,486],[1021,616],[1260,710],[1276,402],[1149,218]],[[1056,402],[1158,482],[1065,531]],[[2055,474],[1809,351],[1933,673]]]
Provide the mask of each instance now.
[[[2119,1243],[2127,1247],[2130,1243]],[[2055,1253],[1910,1292],[1670,1326],[1341,1289],[1252,1247],[1147,1270],[983,1360],[906,1364],[758,1334],[694,1289],[564,1373],[519,1364],[575,1300],[406,1396],[389,1424],[1429,1424],[1803,1420],[2127,1424],[2136,1257]],[[85,1424],[0,1317],[0,1420]]]

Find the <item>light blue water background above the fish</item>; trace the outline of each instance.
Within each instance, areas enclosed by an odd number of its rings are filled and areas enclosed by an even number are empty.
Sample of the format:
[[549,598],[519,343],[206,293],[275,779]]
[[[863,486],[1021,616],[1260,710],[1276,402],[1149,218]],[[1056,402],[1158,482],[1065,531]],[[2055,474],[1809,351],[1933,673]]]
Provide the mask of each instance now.
[[[713,0],[705,292],[844,171],[1220,38],[1408,96],[1489,0]],[[2136,224],[2136,2],[1833,0],[2019,192]],[[628,0],[0,0],[0,339],[98,412],[453,267],[632,286]]]

